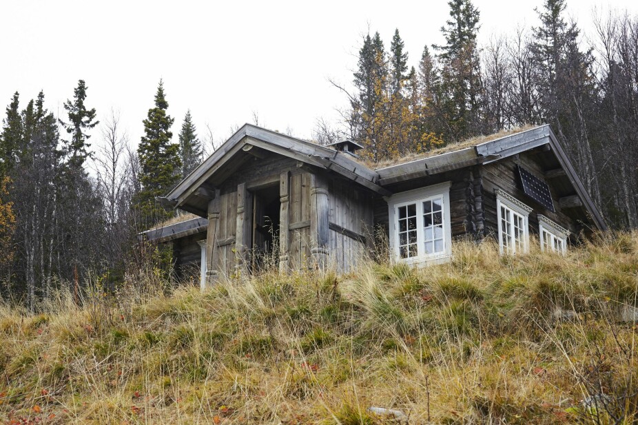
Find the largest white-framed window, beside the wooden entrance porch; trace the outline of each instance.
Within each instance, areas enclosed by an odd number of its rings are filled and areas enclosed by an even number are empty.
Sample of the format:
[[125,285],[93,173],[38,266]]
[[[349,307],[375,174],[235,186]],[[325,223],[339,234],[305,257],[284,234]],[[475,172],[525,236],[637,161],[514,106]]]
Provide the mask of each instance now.
[[396,260],[416,263],[451,256],[450,186],[451,182],[431,185],[388,199]]

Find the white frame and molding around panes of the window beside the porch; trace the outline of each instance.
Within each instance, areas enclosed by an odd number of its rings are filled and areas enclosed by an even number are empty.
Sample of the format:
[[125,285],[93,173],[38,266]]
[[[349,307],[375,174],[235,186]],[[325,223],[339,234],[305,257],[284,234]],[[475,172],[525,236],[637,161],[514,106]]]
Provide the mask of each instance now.
[[[390,251],[392,253],[393,260],[395,262],[404,262],[409,265],[429,265],[438,262],[445,262],[452,256],[452,224],[450,217],[450,188],[452,187],[451,181],[444,183],[438,183],[435,185],[429,185],[420,187],[418,189],[411,189],[407,191],[393,194],[386,198],[388,203],[388,215],[389,215],[389,236],[390,236]],[[398,231],[398,207],[415,203],[417,205],[417,223],[422,222],[422,201],[429,198],[435,198],[440,196],[443,198],[443,252],[426,254],[422,253],[424,248],[424,238],[422,236],[422,225],[418,225],[417,246],[418,252],[421,254],[413,258],[401,258],[399,251],[399,231]]]

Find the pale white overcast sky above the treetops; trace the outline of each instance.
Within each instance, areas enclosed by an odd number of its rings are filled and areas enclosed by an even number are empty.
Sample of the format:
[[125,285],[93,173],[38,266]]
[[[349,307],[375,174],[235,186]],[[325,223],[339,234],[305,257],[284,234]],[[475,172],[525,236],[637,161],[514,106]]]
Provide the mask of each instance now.
[[[542,0],[474,0],[480,43],[537,25]],[[635,0],[568,0],[568,14],[593,35],[593,10],[628,9]],[[431,1],[6,1],[0,3],[0,106],[17,90],[21,107],[44,90],[63,114],[79,79],[103,120],[111,108],[136,145],[142,120],[164,80],[174,140],[187,109],[198,132],[218,143],[253,121],[310,138],[318,118],[336,121],[346,99],[328,79],[349,84],[362,36],[386,47],[398,28],[416,65],[424,45],[441,43],[446,0]],[[92,143],[99,143],[94,130]]]

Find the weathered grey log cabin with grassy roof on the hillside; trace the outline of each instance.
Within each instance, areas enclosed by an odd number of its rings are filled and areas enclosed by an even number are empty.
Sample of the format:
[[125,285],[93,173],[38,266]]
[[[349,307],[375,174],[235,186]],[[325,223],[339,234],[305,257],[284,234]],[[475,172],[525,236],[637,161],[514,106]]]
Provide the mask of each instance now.
[[397,262],[453,256],[455,238],[530,236],[563,253],[606,224],[549,125],[474,138],[371,167],[352,141],[321,146],[246,124],[165,198],[187,219],[145,231],[171,242],[178,276],[333,267],[347,273],[386,236]]

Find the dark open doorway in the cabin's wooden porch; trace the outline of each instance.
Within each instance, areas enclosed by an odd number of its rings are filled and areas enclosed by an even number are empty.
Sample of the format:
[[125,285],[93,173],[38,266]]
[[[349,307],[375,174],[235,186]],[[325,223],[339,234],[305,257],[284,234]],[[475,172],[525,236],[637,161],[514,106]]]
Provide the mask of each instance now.
[[252,198],[251,269],[256,272],[279,260],[279,185],[256,190]]

